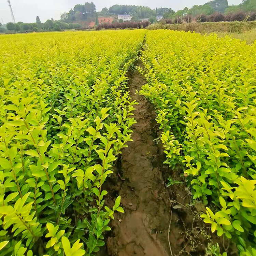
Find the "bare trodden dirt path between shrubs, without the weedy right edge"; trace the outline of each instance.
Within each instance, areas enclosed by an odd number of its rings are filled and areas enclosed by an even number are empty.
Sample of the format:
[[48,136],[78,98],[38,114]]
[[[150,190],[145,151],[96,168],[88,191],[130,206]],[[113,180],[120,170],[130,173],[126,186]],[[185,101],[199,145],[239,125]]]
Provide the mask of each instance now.
[[[116,164],[120,177],[113,177],[108,191],[121,195],[125,214],[112,221],[112,236],[108,238],[109,255],[169,255],[168,225],[170,219],[168,192],[164,189],[158,162],[158,147],[153,136],[154,110],[143,96],[135,94],[146,83],[138,72],[129,80],[131,97],[136,105],[133,142],[123,150]],[[162,160],[160,160],[162,163]],[[122,180],[123,179],[123,180]],[[124,181],[125,179],[125,181]]]

